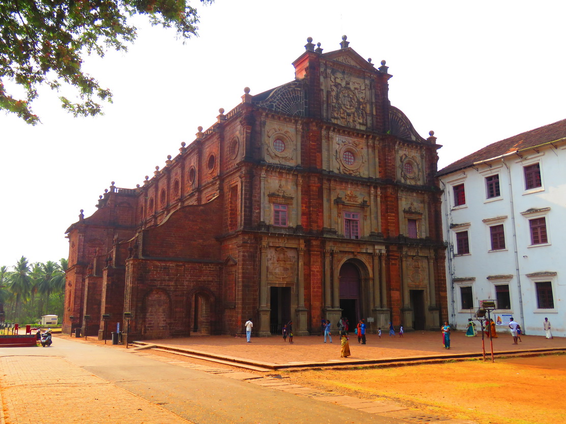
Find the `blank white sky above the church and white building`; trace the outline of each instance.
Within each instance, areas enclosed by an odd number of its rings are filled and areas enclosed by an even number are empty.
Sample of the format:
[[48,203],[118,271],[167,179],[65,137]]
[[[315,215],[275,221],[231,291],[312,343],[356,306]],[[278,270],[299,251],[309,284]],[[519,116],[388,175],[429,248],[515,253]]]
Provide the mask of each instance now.
[[105,115],[73,118],[57,93],[34,102],[42,124],[0,113],[0,265],[68,256],[65,230],[98,196],[141,184],[211,126],[218,108],[294,79],[307,37],[324,52],[350,47],[387,61],[389,99],[426,138],[439,168],[484,145],[565,114],[566,2],[216,0],[199,7],[199,37],[136,19],[128,53],[90,58],[85,70],[114,93]]

